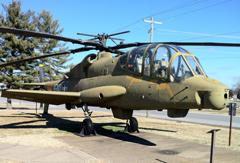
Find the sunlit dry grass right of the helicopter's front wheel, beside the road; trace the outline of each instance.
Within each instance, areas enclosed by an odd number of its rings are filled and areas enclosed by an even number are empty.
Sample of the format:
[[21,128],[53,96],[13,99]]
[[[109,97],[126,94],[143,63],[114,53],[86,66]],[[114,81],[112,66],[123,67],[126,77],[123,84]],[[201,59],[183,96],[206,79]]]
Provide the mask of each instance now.
[[[217,132],[216,136],[216,146],[224,147],[233,150],[240,151],[240,130],[233,129],[232,130],[232,146],[228,146],[229,142],[229,129],[225,127],[215,127],[194,123],[185,123],[179,121],[167,121],[167,120],[159,120],[159,119],[147,119],[147,118],[139,118],[139,121],[145,119],[145,123],[140,123],[141,131],[151,132],[155,134],[165,135],[177,139],[182,139],[186,141],[191,141],[199,144],[211,144],[211,134],[207,134],[208,131],[212,129],[221,129]],[[146,129],[147,126],[150,129]]]

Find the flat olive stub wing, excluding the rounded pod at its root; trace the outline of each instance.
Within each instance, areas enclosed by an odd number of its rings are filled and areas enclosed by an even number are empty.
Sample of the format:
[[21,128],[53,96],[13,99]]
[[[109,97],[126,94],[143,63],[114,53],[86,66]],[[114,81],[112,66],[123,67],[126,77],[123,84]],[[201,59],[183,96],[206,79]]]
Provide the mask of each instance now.
[[2,91],[1,97],[60,105],[77,100],[80,92],[14,90]]

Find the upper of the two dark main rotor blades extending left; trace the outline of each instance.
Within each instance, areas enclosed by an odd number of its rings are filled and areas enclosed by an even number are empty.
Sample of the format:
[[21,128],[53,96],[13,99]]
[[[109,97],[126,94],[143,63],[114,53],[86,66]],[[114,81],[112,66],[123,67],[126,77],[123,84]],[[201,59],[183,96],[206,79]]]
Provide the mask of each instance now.
[[57,36],[57,35],[52,35],[52,34],[47,34],[47,33],[15,29],[15,28],[8,28],[8,27],[1,27],[1,26],[0,26],[0,32],[13,33],[16,35],[21,35],[21,36],[26,36],[26,37],[52,38],[52,39],[56,39],[56,40],[60,40],[60,41],[68,41],[68,42],[72,42],[74,44],[81,44],[81,45],[90,45],[90,46],[97,46],[97,47],[100,45],[98,43],[88,42],[88,41],[84,41],[84,40],[72,39],[72,38],[68,38],[68,37]]

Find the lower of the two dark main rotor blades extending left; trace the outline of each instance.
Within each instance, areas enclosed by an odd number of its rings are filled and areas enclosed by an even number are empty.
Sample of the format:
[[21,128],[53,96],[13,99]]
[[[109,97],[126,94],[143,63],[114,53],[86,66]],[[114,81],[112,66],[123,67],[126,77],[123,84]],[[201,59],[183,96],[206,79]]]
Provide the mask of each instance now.
[[37,56],[37,57],[26,58],[26,59],[21,59],[21,60],[18,60],[18,61],[3,63],[3,64],[0,64],[0,67],[6,67],[6,66],[10,66],[10,65],[22,63],[22,62],[32,61],[32,60],[35,60],[35,59],[53,57],[53,56],[57,56],[57,55],[70,54],[70,53],[73,53],[73,54],[74,54],[74,53],[77,53],[77,52],[89,51],[89,50],[94,50],[94,49],[95,49],[95,48],[91,48],[91,47],[78,48],[78,49],[73,49],[73,50],[64,51],[64,52],[59,52],[59,53],[41,55],[41,56]]

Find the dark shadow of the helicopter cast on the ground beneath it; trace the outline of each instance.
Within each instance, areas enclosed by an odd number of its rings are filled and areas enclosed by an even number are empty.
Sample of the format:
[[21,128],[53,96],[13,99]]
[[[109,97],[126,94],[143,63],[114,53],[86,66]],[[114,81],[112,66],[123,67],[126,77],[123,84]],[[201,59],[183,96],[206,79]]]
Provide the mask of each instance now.
[[[62,131],[67,131],[70,133],[78,134],[81,131],[82,128],[82,122],[78,121],[72,121],[65,118],[84,118],[84,117],[56,117],[52,114],[43,114],[42,116],[33,114],[33,113],[25,113],[30,116],[35,116],[32,118],[38,118],[37,120],[30,120],[30,121],[24,121],[24,122],[17,122],[17,123],[10,123],[6,125],[0,125],[0,129],[20,129],[20,128],[57,128]],[[109,117],[111,115],[104,115],[104,116],[95,116],[95,117]],[[11,116],[9,116],[11,117]],[[16,118],[26,118],[27,116],[21,113],[19,116],[14,116]],[[27,117],[29,118],[29,117]],[[94,121],[94,116],[92,117],[92,120]],[[46,125],[34,125],[31,123],[40,122],[40,121],[46,121]],[[102,136],[106,136],[109,138],[122,140],[126,142],[132,142],[136,144],[141,144],[145,146],[156,146],[155,143],[152,143],[144,138],[141,138],[141,135],[138,134],[129,134],[124,132],[114,132],[112,131],[113,128],[119,130],[124,130],[125,123],[94,123],[95,130],[98,134]],[[109,128],[109,129],[108,129]],[[147,128],[142,128],[147,129]],[[147,129],[148,130],[148,129]],[[153,129],[149,129],[153,130]],[[168,130],[160,130],[155,129],[158,131],[163,132],[176,132],[176,131],[168,131]]]

